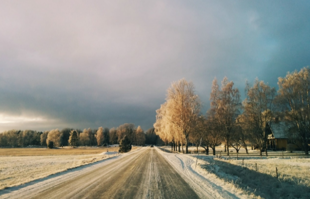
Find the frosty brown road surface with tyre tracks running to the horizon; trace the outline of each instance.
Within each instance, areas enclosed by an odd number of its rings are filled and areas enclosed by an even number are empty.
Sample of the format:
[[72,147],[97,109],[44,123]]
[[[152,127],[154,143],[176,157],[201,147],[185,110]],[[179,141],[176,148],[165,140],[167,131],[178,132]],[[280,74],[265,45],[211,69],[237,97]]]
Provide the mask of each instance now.
[[156,148],[0,191],[0,198],[199,198]]

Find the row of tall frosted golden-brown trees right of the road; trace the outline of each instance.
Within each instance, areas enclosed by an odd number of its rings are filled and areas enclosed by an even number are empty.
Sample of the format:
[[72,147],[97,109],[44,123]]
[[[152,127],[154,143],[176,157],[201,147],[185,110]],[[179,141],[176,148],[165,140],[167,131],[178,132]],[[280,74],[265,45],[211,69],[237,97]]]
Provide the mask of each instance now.
[[[288,147],[297,145],[306,155],[310,148],[310,69],[288,72],[278,78],[279,89],[256,78],[253,85],[246,82],[246,98],[241,101],[239,89],[227,77],[219,86],[212,82],[210,109],[200,114],[201,101],[192,82],[181,79],[168,88],[166,102],[157,110],[154,128],[160,137],[172,145],[186,146],[196,143],[206,149],[225,144],[238,152],[251,144],[267,155],[270,126],[279,121],[288,129]],[[283,129],[284,130],[284,129]]]

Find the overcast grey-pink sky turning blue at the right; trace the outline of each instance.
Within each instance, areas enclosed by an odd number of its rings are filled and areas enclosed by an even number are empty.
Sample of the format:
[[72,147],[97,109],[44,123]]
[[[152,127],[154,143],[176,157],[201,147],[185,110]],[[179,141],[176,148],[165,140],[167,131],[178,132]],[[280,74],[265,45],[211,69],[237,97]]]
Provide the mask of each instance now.
[[310,65],[309,10],[309,0],[0,0],[0,131],[147,130],[183,77],[202,113],[214,77],[277,88]]

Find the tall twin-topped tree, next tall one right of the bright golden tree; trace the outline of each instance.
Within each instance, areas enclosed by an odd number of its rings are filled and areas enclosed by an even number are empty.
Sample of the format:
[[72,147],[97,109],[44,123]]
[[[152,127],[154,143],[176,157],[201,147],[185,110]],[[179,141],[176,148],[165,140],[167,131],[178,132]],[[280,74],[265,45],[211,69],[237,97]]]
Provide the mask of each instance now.
[[225,141],[227,155],[229,155],[229,142],[237,126],[236,118],[241,105],[239,89],[233,86],[233,81],[228,81],[225,76],[220,89],[217,79],[214,78],[210,96],[211,111],[214,112],[214,119]]

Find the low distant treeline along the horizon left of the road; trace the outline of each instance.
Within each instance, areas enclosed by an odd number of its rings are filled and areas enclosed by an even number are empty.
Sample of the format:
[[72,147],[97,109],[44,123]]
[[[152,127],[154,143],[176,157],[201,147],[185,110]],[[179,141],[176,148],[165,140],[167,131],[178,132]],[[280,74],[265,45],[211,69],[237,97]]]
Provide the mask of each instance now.
[[23,147],[28,145],[47,146],[50,141],[54,146],[101,146],[107,144],[119,144],[119,141],[125,136],[129,138],[133,145],[157,144],[162,143],[161,139],[150,128],[144,133],[144,130],[133,123],[124,123],[118,127],[98,129],[80,129],[64,128],[62,130],[52,129],[50,131],[35,130],[8,130],[0,133],[0,147]]

